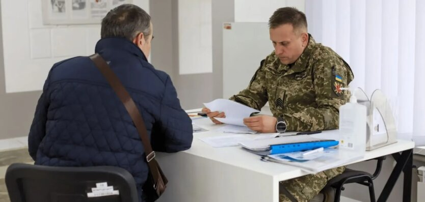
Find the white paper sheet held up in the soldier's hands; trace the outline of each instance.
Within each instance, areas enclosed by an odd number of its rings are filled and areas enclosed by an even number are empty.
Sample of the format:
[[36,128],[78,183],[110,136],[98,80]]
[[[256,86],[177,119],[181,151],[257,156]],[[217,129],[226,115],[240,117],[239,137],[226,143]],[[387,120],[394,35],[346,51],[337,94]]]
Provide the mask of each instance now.
[[238,126],[245,126],[244,118],[250,117],[252,113],[260,112],[254,108],[228,99],[216,99],[212,102],[204,103],[204,105],[211,111],[220,111],[225,113],[226,118],[216,118],[218,121]]

